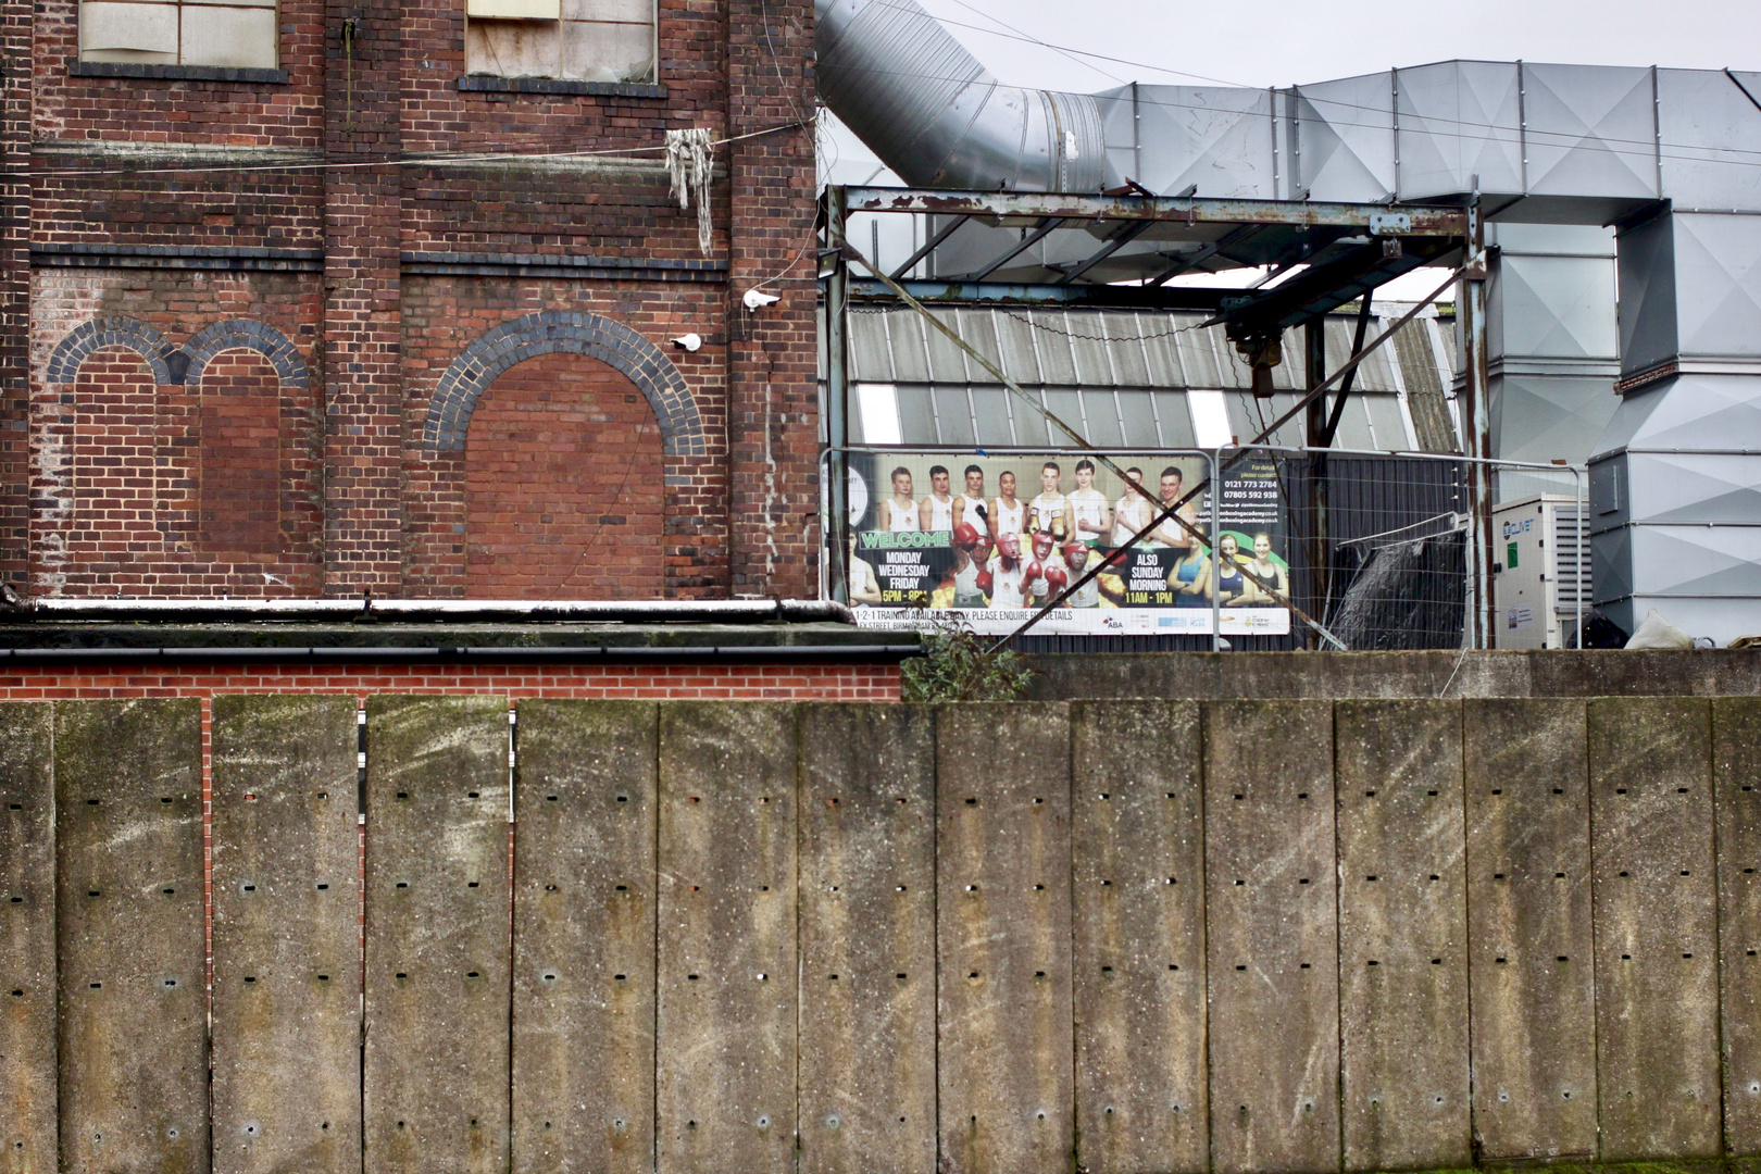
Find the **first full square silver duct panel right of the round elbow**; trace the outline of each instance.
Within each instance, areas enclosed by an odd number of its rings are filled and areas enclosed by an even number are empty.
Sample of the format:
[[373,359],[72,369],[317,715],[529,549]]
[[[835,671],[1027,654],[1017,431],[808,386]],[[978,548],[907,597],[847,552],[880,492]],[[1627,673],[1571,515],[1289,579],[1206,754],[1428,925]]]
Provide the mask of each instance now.
[[1139,86],[1145,187],[1199,195],[1277,199],[1271,95],[1229,86]]

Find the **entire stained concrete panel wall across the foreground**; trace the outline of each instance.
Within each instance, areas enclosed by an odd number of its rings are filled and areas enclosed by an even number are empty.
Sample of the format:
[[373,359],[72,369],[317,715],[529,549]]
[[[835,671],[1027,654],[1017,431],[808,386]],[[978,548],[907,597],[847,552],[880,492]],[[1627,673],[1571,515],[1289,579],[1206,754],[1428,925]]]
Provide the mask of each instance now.
[[365,928],[208,716],[0,706],[7,1174],[1761,1155],[1761,699],[375,699]]

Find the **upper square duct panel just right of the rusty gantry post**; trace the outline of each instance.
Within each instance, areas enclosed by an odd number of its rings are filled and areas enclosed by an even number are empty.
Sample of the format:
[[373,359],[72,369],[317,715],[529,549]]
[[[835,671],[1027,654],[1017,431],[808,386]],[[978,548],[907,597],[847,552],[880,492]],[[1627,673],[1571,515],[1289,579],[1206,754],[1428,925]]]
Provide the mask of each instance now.
[[1497,285],[1504,356],[1613,361],[1620,354],[1613,259],[1504,255]]

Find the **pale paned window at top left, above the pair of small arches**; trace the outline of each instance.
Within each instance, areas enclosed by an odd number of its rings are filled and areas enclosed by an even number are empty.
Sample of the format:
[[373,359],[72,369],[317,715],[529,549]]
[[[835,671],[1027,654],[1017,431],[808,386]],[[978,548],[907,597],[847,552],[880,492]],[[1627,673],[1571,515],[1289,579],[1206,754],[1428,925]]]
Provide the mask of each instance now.
[[278,69],[275,0],[86,0],[79,60]]

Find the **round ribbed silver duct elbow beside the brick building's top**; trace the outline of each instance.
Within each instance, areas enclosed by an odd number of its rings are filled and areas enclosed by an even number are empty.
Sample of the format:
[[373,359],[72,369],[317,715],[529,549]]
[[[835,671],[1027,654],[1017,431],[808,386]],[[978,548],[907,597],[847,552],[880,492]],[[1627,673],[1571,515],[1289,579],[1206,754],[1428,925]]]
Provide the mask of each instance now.
[[814,0],[819,93],[907,183],[1099,192],[1101,106],[1000,84],[914,2]]

